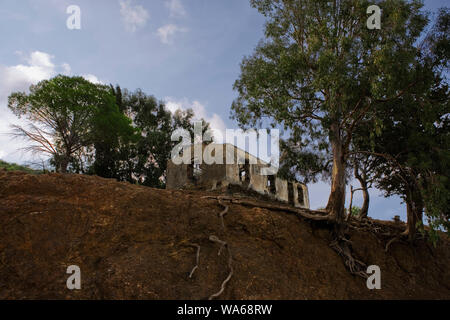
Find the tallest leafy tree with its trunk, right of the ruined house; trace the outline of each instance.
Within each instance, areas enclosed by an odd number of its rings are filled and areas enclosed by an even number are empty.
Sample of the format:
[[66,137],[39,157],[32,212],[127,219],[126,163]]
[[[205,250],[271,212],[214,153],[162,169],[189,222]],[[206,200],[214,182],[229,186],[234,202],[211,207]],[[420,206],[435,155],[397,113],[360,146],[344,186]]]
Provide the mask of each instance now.
[[340,223],[356,130],[371,121],[371,134],[380,133],[378,110],[396,105],[430,76],[416,67],[429,17],[421,1],[377,1],[381,28],[369,30],[371,1],[250,2],[267,18],[265,37],[241,63],[232,115],[241,126],[283,126],[290,133],[287,147],[306,146],[318,163],[328,156],[327,210]]

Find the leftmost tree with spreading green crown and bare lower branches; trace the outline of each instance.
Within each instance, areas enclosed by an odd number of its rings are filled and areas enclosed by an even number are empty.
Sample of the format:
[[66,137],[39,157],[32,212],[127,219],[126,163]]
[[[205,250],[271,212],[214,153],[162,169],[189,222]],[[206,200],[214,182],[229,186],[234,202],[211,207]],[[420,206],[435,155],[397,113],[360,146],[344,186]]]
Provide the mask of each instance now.
[[82,77],[58,75],[43,80],[32,85],[28,94],[12,93],[8,107],[30,121],[30,129],[14,127],[17,136],[33,142],[28,150],[49,154],[63,173],[70,164],[80,162],[80,154],[86,153],[83,149],[98,139],[100,127],[105,135],[131,130],[109,88]]

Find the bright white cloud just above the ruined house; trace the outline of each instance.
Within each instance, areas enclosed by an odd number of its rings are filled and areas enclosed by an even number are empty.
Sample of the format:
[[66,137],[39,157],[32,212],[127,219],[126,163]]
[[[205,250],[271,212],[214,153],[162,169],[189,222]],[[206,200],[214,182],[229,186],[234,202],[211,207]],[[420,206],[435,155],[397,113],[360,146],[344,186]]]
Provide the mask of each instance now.
[[203,118],[206,122],[209,122],[210,128],[215,136],[215,141],[218,143],[223,142],[217,138],[219,136],[225,137],[226,126],[222,118],[218,114],[209,114],[205,106],[197,100],[191,102],[187,98],[177,100],[172,97],[166,97],[164,100],[166,102],[166,108],[172,113],[174,113],[178,109],[192,109],[194,111],[194,120],[200,120]]

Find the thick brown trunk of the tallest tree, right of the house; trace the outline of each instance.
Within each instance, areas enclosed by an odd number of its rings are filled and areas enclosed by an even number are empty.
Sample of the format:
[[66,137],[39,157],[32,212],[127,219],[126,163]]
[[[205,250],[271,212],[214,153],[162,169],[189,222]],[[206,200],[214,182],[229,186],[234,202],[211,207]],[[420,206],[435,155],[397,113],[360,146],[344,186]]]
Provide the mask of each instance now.
[[338,224],[345,219],[345,156],[339,125],[331,125],[330,142],[333,152],[333,171],[331,176],[331,192],[328,198],[327,211]]

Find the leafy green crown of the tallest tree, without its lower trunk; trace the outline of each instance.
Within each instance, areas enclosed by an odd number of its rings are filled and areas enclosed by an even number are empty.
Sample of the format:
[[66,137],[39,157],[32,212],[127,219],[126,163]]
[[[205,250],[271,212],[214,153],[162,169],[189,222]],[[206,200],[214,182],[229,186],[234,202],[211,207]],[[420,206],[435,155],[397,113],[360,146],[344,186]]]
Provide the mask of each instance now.
[[330,121],[361,98],[386,98],[409,83],[413,43],[427,21],[418,1],[379,1],[381,30],[366,27],[369,1],[251,3],[268,22],[266,39],[243,59],[234,85],[239,123],[266,116],[294,132],[326,137]]

